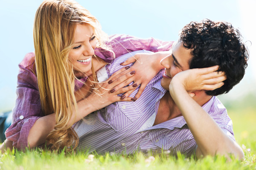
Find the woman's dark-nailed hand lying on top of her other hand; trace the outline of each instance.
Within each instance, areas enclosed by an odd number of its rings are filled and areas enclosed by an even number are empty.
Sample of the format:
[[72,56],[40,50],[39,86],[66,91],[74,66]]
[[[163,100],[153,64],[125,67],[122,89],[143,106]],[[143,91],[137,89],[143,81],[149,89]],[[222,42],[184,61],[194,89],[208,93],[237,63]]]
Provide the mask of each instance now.
[[86,100],[95,107],[94,111],[116,101],[133,101],[134,98],[118,96],[118,94],[133,91],[137,87],[135,84],[127,86],[133,81],[131,78],[136,75],[135,71],[125,71],[125,68],[119,69],[107,81],[101,83],[95,83],[91,77],[88,77],[87,83],[76,92],[76,100]]

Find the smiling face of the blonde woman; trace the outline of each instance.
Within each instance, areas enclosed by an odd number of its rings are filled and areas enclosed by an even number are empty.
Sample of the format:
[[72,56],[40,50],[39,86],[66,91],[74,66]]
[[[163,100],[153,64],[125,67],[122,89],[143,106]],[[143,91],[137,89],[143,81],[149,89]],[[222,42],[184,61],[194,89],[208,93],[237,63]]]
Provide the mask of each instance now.
[[70,50],[69,60],[73,64],[75,75],[83,75],[92,68],[92,56],[96,48],[96,39],[89,24],[77,24],[74,43]]

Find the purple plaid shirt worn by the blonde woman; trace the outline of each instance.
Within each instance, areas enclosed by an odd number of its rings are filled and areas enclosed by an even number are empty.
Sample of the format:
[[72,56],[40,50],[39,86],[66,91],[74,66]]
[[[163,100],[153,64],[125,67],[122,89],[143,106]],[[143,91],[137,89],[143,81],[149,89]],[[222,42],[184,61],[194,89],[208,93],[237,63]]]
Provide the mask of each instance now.
[[[112,35],[109,37],[109,46],[118,58],[120,55],[136,50],[149,50],[152,52],[167,51],[172,48],[171,41],[165,42],[154,38],[139,39],[129,35]],[[99,48],[95,49],[95,54],[111,62],[113,54],[109,51]],[[19,73],[17,76],[17,99],[13,108],[12,125],[6,130],[6,138],[13,141],[13,146],[22,149],[27,146],[29,130],[35,124],[35,121],[44,116],[41,109],[40,95],[38,91],[37,78],[32,72],[34,66],[35,53],[26,54],[23,61],[19,64]],[[86,78],[81,79],[82,82]],[[76,89],[81,88],[83,83],[75,81]]]

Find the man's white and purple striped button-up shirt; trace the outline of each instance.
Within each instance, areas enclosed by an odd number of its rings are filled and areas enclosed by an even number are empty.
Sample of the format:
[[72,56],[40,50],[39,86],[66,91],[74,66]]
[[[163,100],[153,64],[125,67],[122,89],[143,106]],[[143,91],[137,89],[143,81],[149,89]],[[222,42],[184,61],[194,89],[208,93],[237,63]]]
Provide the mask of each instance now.
[[[122,55],[99,70],[99,81],[105,81],[123,67],[119,63],[138,52],[149,53],[142,50]],[[137,150],[145,153],[152,150],[155,153],[163,148],[170,150],[173,155],[177,151],[187,156],[193,154],[197,144],[183,116],[153,126],[160,99],[166,93],[160,84],[162,74],[163,70],[149,82],[137,101],[115,102],[79,121],[74,127],[79,135],[79,149],[90,148],[89,152],[95,150],[97,153],[133,153]],[[137,91],[138,88],[131,96]],[[232,121],[217,97],[212,97],[203,109],[235,140]]]

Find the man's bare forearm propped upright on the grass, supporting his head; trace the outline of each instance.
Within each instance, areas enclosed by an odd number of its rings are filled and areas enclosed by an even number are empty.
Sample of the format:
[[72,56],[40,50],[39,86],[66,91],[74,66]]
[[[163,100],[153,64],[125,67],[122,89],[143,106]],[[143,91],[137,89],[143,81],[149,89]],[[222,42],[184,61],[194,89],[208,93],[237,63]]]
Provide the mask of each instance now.
[[[193,72],[192,69],[184,72],[175,75],[170,83],[169,90],[198,145],[196,156],[200,158],[201,156],[220,154],[229,158],[231,153],[239,159],[244,158],[241,147],[218,127],[218,124],[187,92],[190,90],[187,88],[189,83],[186,82],[186,79],[191,80],[193,75],[197,73]],[[210,77],[213,78],[212,75]],[[207,84],[207,87],[202,86],[201,89],[208,88],[206,90],[212,90],[222,85],[215,81],[214,85]]]

